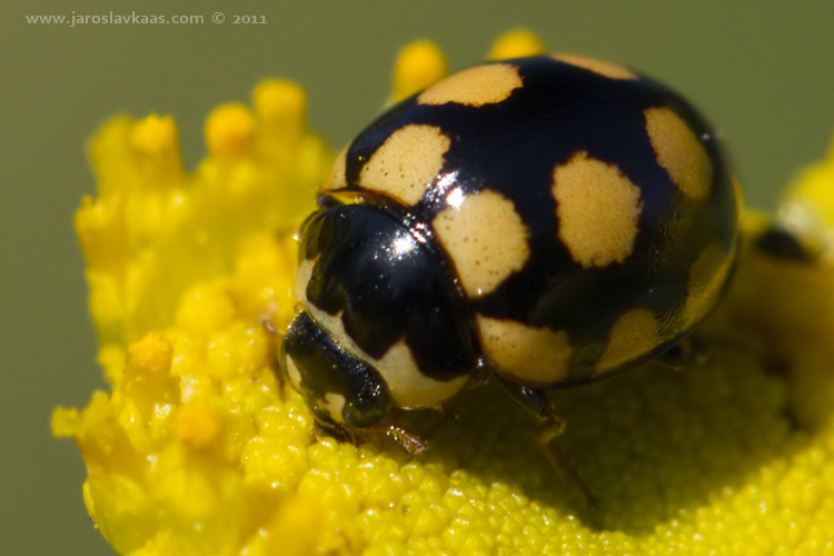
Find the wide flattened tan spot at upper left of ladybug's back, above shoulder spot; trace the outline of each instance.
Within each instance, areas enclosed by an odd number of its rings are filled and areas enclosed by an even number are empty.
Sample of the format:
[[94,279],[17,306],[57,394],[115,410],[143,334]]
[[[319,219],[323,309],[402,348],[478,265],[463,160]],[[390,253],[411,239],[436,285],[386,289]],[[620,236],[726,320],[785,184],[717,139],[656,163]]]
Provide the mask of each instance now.
[[454,73],[426,89],[417,102],[420,105],[445,105],[456,102],[479,107],[505,100],[522,87],[518,69],[508,63],[477,66]]

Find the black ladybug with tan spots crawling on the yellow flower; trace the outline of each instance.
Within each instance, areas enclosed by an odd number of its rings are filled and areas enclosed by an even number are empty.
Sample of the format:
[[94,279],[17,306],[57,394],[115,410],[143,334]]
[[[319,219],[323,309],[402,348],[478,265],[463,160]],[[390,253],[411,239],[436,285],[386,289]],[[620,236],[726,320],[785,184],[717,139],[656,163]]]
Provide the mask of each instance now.
[[[327,429],[496,377],[547,398],[658,356],[721,298],[741,195],[668,88],[577,56],[486,62],[387,110],[301,226],[282,367]],[[383,428],[380,428],[383,427]]]

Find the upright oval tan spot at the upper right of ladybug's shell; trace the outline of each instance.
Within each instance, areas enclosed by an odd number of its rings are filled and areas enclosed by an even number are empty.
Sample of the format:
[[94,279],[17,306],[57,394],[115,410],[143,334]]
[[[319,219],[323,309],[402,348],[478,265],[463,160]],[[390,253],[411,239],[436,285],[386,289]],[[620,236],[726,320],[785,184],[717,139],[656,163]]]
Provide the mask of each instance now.
[[713,165],[689,126],[668,108],[648,108],[646,132],[657,163],[691,199],[705,199],[713,181]]

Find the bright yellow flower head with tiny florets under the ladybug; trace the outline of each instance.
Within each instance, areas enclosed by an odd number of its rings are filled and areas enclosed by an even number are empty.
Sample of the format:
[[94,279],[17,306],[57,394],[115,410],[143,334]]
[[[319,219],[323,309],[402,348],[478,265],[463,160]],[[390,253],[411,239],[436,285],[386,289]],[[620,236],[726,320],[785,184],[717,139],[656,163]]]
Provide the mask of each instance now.
[[[540,49],[517,31],[492,56]],[[411,44],[391,99],[445,72],[434,44]],[[118,553],[834,552],[830,262],[762,252],[772,222],[748,215],[734,285],[697,332],[706,361],[554,393],[568,423],[558,441],[596,507],[490,387],[465,393],[457,420],[405,416],[430,443],[417,457],[377,437],[337,441],[282,388],[261,325],[291,318],[292,232],[332,153],[307,129],[299,87],[266,81],[252,106],[211,113],[193,173],[170,118],[119,118],[90,145],[99,195],[76,228],[111,388],[57,409],[52,430],[76,439],[87,508]],[[826,187],[800,183],[790,202],[834,205],[823,173]]]

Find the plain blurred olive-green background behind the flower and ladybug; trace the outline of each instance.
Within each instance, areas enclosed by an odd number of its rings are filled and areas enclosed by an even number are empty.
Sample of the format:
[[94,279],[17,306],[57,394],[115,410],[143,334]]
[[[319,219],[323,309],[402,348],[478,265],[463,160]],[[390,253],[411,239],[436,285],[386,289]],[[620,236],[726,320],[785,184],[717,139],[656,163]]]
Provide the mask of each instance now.
[[[18,6],[14,6],[18,4]],[[683,91],[726,138],[751,205],[773,207],[834,131],[834,2],[3,2],[0,7],[2,378],[0,554],[112,554],[81,500],[85,467],[52,407],[105,387],[71,220],[95,192],[85,143],[110,116],[173,115],[202,157],[212,107],[261,78],[309,92],[310,126],[341,146],[377,112],[397,50],[428,37],[451,68],[509,28],[553,50],[638,68]],[[175,14],[202,24],[30,24],[27,14]],[[215,12],[225,14],[214,23]],[[235,24],[234,16],[266,24]]]

